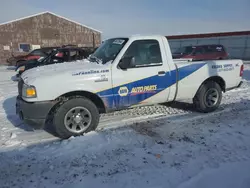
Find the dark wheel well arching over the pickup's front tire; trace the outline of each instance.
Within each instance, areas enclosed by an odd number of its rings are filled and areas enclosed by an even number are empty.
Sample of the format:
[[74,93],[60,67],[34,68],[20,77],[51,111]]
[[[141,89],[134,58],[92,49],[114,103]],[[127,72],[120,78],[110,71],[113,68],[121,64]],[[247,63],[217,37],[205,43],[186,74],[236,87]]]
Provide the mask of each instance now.
[[98,95],[96,95],[94,93],[91,93],[91,92],[72,91],[72,92],[65,93],[65,94],[61,95],[57,99],[59,99],[59,101],[60,101],[60,99],[65,99],[65,98],[74,97],[74,96],[86,97],[89,100],[91,100],[97,106],[100,113],[105,113],[106,112],[106,108],[105,108],[105,105],[104,105],[102,99]]

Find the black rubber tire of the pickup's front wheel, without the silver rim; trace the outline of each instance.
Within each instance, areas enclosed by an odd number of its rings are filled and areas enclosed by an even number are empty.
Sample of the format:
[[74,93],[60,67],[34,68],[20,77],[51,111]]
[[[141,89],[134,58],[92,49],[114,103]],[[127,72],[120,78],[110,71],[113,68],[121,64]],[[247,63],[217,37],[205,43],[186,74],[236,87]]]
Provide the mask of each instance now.
[[[91,114],[90,125],[87,127],[86,130],[78,133],[69,131],[69,129],[66,127],[64,123],[66,114],[70,110],[76,107],[83,107],[87,109],[88,112]],[[62,139],[67,139],[71,136],[80,136],[83,133],[95,130],[99,123],[99,119],[100,119],[99,111],[96,105],[92,101],[84,97],[74,97],[70,98],[66,102],[60,104],[59,107],[57,107],[53,117],[53,125],[58,136]]]

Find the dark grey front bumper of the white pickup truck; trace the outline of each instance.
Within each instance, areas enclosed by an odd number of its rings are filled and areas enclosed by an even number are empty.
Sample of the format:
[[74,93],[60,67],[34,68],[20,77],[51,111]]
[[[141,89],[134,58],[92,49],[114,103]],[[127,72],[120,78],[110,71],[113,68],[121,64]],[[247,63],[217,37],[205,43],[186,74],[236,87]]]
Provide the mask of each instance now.
[[20,96],[16,98],[16,114],[28,125],[40,129],[45,125],[45,121],[55,102],[26,102]]

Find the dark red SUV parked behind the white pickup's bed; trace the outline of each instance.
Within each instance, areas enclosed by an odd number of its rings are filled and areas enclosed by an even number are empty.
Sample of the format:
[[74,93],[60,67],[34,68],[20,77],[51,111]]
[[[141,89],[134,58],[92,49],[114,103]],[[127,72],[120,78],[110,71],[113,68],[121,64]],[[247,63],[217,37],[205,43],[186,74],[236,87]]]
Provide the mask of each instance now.
[[193,60],[228,59],[228,53],[223,45],[184,46],[173,53],[174,59],[184,58]]

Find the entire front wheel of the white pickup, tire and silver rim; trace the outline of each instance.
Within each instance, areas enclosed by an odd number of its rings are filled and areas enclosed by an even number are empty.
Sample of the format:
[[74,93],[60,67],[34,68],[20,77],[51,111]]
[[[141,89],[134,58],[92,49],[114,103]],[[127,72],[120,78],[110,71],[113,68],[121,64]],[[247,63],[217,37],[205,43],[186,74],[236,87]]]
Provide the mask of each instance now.
[[95,130],[99,118],[99,111],[92,101],[83,97],[71,98],[57,108],[53,124],[58,136],[67,139]]

